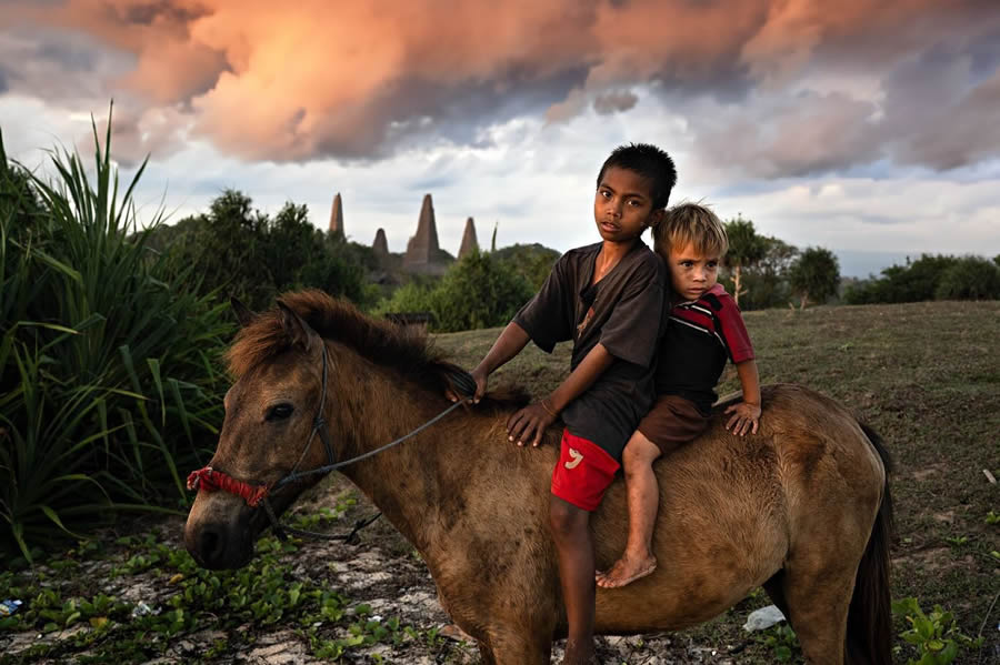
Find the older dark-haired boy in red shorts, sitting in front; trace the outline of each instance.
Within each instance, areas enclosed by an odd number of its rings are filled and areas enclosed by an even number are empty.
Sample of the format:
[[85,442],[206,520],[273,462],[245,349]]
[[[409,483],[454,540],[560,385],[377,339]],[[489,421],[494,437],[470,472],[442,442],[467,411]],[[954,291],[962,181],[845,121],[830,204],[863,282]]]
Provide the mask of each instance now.
[[566,381],[507,423],[510,441],[534,446],[560,412],[566,423],[549,504],[569,627],[564,665],[583,665],[593,655],[590,513],[654,395],[666,271],[639,236],[662,216],[676,181],[673,162],[662,150],[648,144],[616,149],[601,167],[594,195],[601,242],[563,254],[472,371],[477,402],[487,376],[529,340],[547,352],[557,342],[573,341]]

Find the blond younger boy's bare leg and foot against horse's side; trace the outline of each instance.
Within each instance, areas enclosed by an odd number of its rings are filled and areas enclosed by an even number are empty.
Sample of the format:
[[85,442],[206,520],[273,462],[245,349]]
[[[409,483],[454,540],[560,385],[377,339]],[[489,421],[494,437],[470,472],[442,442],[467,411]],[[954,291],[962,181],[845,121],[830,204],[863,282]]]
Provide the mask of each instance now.
[[636,432],[622,454],[626,492],[629,498],[629,538],[626,551],[611,570],[597,574],[598,586],[617,588],[646,577],[657,570],[652,553],[653,526],[660,507],[660,488],[652,463],[660,449],[641,432]]

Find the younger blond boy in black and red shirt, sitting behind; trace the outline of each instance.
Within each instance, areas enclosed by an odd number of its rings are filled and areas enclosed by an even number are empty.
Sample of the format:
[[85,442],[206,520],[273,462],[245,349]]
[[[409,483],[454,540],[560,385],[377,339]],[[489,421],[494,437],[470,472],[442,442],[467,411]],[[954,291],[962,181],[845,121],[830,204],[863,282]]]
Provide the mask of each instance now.
[[656,570],[652,534],[660,493],[652,463],[708,427],[727,359],[737,366],[743,401],[726,410],[732,413],[726,429],[740,436],[757,433],[760,384],[753,347],[739,308],[717,283],[728,245],[722,222],[701,205],[672,208],[653,228],[653,246],[670,275],[669,320],[657,361],[657,402],[623,454],[629,501],[626,551],[610,571],[598,573],[601,587],[624,586]]

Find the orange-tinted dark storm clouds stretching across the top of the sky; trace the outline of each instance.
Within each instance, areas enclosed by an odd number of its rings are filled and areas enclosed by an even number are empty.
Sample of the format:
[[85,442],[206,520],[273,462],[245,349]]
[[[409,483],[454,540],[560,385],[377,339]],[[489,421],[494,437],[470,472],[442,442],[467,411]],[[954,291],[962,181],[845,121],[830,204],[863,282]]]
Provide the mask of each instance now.
[[[72,91],[72,74],[93,69],[100,84],[89,92],[144,100],[129,109],[141,142],[166,145],[190,129],[244,159],[377,160],[441,139],[487,145],[484,130],[513,118],[628,118],[643,94],[687,121],[701,159],[761,177],[883,162],[947,170],[1000,153],[994,2],[19,7],[18,26],[73,30],[131,59],[111,73],[107,53],[44,41],[22,56],[48,68],[18,70],[34,94],[60,100],[61,83]],[[12,21],[0,19],[11,31]],[[158,124],[173,121],[184,129]]]

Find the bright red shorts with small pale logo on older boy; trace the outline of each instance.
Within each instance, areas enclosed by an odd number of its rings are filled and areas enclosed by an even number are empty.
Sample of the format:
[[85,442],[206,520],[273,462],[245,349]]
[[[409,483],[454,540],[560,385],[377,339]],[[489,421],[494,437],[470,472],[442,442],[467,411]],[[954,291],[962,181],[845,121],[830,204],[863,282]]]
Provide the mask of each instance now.
[[552,472],[552,494],[578,508],[594,511],[618,467],[614,457],[598,444],[563,430],[559,462]]

